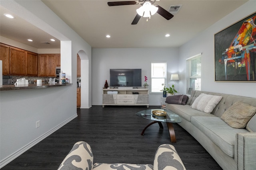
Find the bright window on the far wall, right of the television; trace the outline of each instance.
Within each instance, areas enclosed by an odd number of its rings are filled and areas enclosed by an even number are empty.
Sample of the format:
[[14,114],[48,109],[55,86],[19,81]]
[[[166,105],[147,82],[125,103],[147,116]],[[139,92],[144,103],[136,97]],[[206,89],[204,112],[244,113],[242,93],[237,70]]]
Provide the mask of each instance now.
[[166,75],[166,63],[151,63],[151,92],[161,93],[166,86]]

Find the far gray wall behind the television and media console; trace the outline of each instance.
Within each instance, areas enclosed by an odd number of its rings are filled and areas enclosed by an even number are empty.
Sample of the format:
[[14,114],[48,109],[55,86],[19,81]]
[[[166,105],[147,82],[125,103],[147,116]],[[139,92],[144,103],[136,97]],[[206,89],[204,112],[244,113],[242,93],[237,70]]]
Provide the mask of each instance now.
[[[141,68],[142,84],[148,77],[150,88],[151,62],[167,62],[167,84],[171,74],[178,73],[178,48],[92,49],[92,105],[102,104],[102,88],[109,83],[110,68]],[[179,90],[179,87],[176,86]],[[161,94],[150,94],[149,104],[160,105]]]

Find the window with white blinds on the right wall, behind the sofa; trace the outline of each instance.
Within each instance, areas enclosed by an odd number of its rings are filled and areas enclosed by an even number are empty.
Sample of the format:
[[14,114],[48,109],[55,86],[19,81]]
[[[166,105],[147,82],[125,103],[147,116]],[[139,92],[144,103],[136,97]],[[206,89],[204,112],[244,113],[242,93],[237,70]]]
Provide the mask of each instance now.
[[201,90],[201,55],[202,53],[186,59],[186,94],[190,95],[191,90]]

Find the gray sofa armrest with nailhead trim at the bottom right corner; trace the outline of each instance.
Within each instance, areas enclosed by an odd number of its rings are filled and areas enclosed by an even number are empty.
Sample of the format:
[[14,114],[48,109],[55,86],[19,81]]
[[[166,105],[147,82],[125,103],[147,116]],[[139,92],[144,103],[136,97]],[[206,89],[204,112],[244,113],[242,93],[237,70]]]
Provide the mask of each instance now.
[[237,133],[235,144],[237,170],[254,170],[256,167],[256,132]]

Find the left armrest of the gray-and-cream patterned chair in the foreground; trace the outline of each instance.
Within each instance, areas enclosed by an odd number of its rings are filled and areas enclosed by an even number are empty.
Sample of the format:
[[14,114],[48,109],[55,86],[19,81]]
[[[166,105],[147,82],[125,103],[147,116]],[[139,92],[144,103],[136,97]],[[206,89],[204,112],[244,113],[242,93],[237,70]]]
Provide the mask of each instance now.
[[90,145],[80,141],[75,143],[58,170],[86,169],[92,170],[93,154]]

